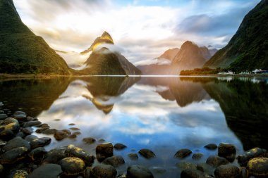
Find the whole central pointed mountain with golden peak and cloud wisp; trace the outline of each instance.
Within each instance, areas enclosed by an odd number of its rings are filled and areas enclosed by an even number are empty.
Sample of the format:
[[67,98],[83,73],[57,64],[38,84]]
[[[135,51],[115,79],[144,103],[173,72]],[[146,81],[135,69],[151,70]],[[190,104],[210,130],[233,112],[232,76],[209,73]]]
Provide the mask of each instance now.
[[86,67],[81,70],[85,75],[140,75],[141,72],[118,51],[111,51],[101,44],[114,44],[110,34],[104,32],[90,46],[90,57],[85,61]]

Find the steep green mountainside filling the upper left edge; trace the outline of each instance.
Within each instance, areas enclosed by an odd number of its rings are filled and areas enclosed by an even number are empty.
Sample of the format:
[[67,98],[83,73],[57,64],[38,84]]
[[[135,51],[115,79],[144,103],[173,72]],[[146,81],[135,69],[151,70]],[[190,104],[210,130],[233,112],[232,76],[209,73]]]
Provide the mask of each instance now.
[[12,0],[0,0],[0,73],[71,74],[67,63],[20,19]]

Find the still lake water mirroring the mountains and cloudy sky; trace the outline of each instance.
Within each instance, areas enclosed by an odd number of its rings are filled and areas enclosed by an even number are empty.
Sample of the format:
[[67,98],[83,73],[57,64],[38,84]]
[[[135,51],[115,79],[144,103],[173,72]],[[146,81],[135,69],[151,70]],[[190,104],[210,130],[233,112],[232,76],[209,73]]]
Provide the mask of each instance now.
[[[78,127],[77,139],[52,142],[56,146],[75,144],[95,154],[99,139],[128,148],[115,151],[126,165],[164,167],[154,177],[178,177],[177,163],[205,162],[217,151],[206,144],[234,144],[237,152],[255,146],[268,148],[268,79],[233,77],[81,77],[49,80],[7,80],[0,82],[0,101],[11,110],[23,110],[51,128]],[[75,123],[75,126],[69,126]],[[47,136],[38,134],[39,136]],[[97,142],[84,144],[94,137]],[[128,153],[149,148],[157,158],[141,156],[130,160]],[[191,156],[173,158],[181,148],[204,153],[201,160]],[[95,161],[95,164],[97,161]],[[236,164],[236,163],[233,163]]]

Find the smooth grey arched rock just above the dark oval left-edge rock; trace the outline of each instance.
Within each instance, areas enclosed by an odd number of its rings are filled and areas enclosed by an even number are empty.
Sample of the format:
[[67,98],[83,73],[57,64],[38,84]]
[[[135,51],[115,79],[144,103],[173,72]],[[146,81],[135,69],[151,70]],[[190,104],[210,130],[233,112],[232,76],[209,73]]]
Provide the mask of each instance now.
[[2,148],[2,151],[10,151],[11,149],[18,147],[24,147],[27,149],[27,151],[29,151],[31,148],[28,141],[25,141],[21,137],[17,136],[14,139],[8,141],[8,143],[6,143],[6,145]]

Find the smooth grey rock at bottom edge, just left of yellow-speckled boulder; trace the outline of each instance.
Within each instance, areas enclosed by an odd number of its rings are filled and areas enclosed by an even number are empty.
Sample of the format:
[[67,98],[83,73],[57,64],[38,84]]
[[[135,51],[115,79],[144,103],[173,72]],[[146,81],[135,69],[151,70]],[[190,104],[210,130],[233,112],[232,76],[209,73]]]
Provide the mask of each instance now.
[[61,174],[61,166],[56,164],[41,165],[28,178],[58,178]]

